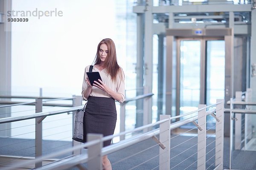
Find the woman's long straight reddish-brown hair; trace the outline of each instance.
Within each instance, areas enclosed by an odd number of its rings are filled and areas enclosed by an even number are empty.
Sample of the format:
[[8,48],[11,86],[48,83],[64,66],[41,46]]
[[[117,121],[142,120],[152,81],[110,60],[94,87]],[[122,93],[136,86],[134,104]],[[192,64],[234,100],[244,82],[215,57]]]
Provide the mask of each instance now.
[[120,75],[121,78],[123,78],[121,67],[117,64],[116,46],[113,40],[111,40],[110,38],[103,39],[101,40],[101,42],[99,42],[96,57],[94,59],[94,65],[99,65],[101,63],[101,60],[99,58],[99,47],[102,44],[105,44],[108,47],[108,55],[105,59],[104,65],[107,73],[111,76],[111,79],[114,81],[116,81],[118,75]]

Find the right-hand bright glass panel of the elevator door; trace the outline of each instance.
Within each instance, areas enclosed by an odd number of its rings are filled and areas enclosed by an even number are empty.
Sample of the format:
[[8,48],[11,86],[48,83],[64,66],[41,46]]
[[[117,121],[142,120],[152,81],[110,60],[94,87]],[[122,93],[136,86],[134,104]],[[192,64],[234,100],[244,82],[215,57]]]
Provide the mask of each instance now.
[[[225,90],[225,41],[209,40],[207,43],[206,104],[224,99]],[[207,116],[207,128],[215,126],[215,119]]]

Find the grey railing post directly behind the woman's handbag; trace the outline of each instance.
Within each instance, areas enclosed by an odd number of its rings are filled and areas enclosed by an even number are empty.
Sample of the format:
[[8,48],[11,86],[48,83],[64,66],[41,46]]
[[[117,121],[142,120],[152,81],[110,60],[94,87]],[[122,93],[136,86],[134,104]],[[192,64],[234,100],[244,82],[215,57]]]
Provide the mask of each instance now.
[[[81,106],[82,105],[82,96],[76,96],[73,95],[73,99],[72,99],[72,106],[76,107],[76,106]],[[73,118],[72,118],[72,135],[74,134],[74,127],[75,127],[75,119],[76,119],[76,111],[73,111]],[[80,142],[76,142],[75,140],[73,140],[72,142],[73,146],[79,145],[81,144]],[[73,155],[79,155],[81,154],[81,149],[80,150],[74,150],[73,151]]]

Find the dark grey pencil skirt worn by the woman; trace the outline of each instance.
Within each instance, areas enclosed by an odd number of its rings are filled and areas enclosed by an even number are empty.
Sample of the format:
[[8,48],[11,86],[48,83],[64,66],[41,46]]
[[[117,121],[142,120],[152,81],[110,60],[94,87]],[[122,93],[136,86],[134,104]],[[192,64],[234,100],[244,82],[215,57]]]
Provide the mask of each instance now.
[[[84,112],[84,142],[87,133],[101,133],[103,136],[113,135],[116,127],[116,103],[113,98],[89,96]],[[111,144],[111,140],[103,142],[103,146]]]

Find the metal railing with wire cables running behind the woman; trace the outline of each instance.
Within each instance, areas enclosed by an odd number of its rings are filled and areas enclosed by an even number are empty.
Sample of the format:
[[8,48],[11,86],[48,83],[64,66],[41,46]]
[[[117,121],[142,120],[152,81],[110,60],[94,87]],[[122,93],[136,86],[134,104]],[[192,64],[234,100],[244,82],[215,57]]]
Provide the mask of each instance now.
[[[126,99],[125,102],[123,102],[120,105],[120,108],[121,108],[121,110],[120,110],[120,115],[121,115],[120,119],[123,120],[123,122],[125,122],[125,105],[128,102],[136,101],[138,99],[146,99],[148,97],[151,97],[152,95],[153,95],[152,93],[143,94],[143,95],[131,98],[131,99]],[[2,98],[12,98],[12,97],[14,97],[14,98],[34,99],[33,96],[30,96],[30,97],[29,96],[0,96],[0,97],[2,97]],[[48,97],[47,98],[38,97],[38,98],[40,98],[40,99],[35,99],[35,102],[9,102],[10,105],[1,105],[1,108],[14,107],[14,106],[20,106],[20,105],[35,105],[35,113],[29,114],[29,115],[11,116],[11,117],[0,118],[0,125],[6,125],[6,124],[9,124],[11,122],[21,122],[21,121],[24,121],[24,120],[33,120],[33,119],[35,119],[34,124],[20,126],[20,128],[27,127],[27,126],[35,126],[34,127],[35,130],[32,130],[32,132],[26,132],[26,133],[35,133],[35,138],[34,139],[28,139],[28,140],[25,140],[25,141],[22,141],[22,142],[17,142],[17,144],[19,144],[19,143],[31,142],[31,140],[35,140],[34,144],[29,147],[29,148],[34,147],[35,152],[33,154],[27,155],[27,156],[35,155],[35,158],[38,158],[38,157],[43,155],[43,150],[42,150],[42,145],[43,145],[42,141],[43,141],[43,137],[44,137],[42,135],[42,133],[43,133],[43,128],[42,128],[43,120],[47,116],[53,116],[53,115],[58,115],[58,114],[62,114],[62,113],[68,113],[68,114],[69,113],[75,113],[78,109],[83,108],[81,96],[73,96],[72,98],[58,98],[58,99],[48,98]],[[47,99],[47,100],[43,100],[43,99]],[[64,100],[64,99],[65,100],[66,99],[72,99],[73,104],[71,104],[71,105],[70,104],[69,105],[61,104],[61,107],[70,107],[71,106],[71,108],[63,109],[63,110],[58,109],[57,111],[43,111],[43,106],[49,106],[49,105],[47,105],[46,102],[56,101],[56,100]],[[5,103],[5,101],[0,101],[0,103],[3,104],[3,103]],[[59,104],[52,103],[51,106],[59,106]],[[72,121],[71,125],[73,126],[73,123],[74,123],[74,120],[75,120],[75,114],[73,114],[72,119],[73,119],[73,121]],[[57,124],[58,124],[58,122],[57,122]],[[61,125],[59,125],[59,126],[61,126]],[[58,126],[56,126],[56,127],[58,127]],[[63,125],[63,127],[64,127],[64,125]],[[18,127],[15,127],[15,128],[18,128]],[[124,127],[121,127],[120,131],[122,132],[122,131],[124,131],[124,129],[125,129]],[[0,131],[3,131],[3,130],[12,130],[12,128],[10,128],[10,126],[9,126],[6,129],[1,129]],[[73,131],[73,128],[72,128],[71,131]],[[73,132],[72,132],[72,134],[73,134]],[[70,133],[70,135],[72,135],[72,134]],[[15,136],[17,136],[17,135],[15,135]],[[1,136],[1,137],[2,138],[0,140],[4,140],[4,139],[12,139],[12,137],[14,137],[14,136],[10,135],[10,136]],[[71,140],[72,136],[70,136],[69,138]],[[58,139],[58,140],[61,140],[61,139]],[[76,146],[78,144],[79,144],[78,142],[73,141],[73,146]],[[9,145],[7,144],[7,145],[4,145],[2,147],[8,147],[8,146]],[[13,144],[12,144],[12,147],[13,147]],[[75,152],[73,152],[73,155],[80,154],[80,153],[81,153],[81,150],[80,151],[76,150]],[[4,156],[3,152],[1,154],[2,155],[0,155],[0,156]],[[73,156],[73,155],[71,155],[71,156]],[[22,158],[27,157],[27,156],[26,155],[25,156],[18,156],[18,157],[15,157],[13,160],[22,159]],[[0,164],[4,163],[4,162],[9,162],[9,161],[2,161],[2,162],[0,162]],[[35,167],[41,167],[42,165],[43,165],[43,162],[38,162],[37,164],[35,164]]]

